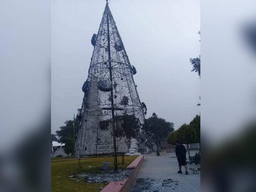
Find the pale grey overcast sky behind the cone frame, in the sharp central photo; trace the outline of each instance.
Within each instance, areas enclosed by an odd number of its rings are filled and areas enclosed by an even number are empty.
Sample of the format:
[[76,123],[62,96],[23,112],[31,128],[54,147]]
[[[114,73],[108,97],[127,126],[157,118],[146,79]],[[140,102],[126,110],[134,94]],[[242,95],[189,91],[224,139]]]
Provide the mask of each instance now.
[[[51,125],[55,133],[81,108],[81,87],[106,1],[53,0],[51,13]],[[190,57],[200,55],[199,0],[111,0],[141,102],[175,129],[199,114],[200,79]]]

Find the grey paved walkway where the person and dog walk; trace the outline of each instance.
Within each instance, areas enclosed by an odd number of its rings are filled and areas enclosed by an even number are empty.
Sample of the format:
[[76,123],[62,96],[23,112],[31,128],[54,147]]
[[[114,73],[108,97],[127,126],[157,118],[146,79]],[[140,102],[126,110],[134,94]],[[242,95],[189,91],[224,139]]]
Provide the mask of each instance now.
[[[191,151],[190,155],[194,155],[195,152],[197,151]],[[169,192],[173,190],[177,192],[198,192],[200,191],[200,171],[199,174],[193,174],[192,170],[189,169],[192,165],[188,164],[189,175],[185,175],[185,168],[183,166],[183,173],[179,174],[177,173],[179,166],[175,153],[161,154],[160,156],[156,156],[156,154],[145,155],[145,160],[135,185],[140,185],[140,179],[144,179],[155,182],[155,184],[152,184],[152,189],[147,189],[147,191]],[[167,180],[171,180],[171,183],[163,185]],[[136,192],[136,190],[133,190],[133,192]]]

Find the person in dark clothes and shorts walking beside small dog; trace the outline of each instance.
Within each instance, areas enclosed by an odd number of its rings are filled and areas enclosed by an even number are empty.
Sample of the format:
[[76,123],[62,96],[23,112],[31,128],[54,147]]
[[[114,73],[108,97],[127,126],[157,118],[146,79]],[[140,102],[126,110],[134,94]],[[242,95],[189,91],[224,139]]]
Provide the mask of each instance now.
[[186,170],[186,175],[188,175],[189,173],[187,172],[187,162],[186,162],[186,153],[187,153],[187,150],[186,148],[184,147],[184,145],[180,144],[180,141],[179,140],[176,140],[175,141],[175,154],[176,154],[176,157],[178,159],[178,163],[179,163],[179,171],[178,173],[182,173],[181,171],[181,167],[184,166],[185,167],[185,170]]

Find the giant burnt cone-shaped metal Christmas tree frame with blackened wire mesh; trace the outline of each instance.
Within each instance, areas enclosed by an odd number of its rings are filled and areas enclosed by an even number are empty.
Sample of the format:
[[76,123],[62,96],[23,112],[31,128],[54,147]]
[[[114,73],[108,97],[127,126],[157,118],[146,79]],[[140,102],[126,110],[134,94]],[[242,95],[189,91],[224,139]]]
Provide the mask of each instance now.
[[[85,157],[111,153],[117,171],[117,155],[128,152],[131,138],[127,135],[117,136],[116,128],[120,128],[122,122],[118,122],[116,117],[134,116],[141,127],[145,124],[145,109],[133,80],[136,69],[130,64],[108,2],[98,34],[94,37],[93,56],[88,79],[83,86],[83,104],[78,114],[80,123],[75,155]],[[99,89],[99,83],[106,80],[111,81],[111,89]],[[104,129],[100,126],[103,123],[106,123]],[[148,151],[144,143],[147,136],[141,129],[137,132],[139,150],[145,153]]]

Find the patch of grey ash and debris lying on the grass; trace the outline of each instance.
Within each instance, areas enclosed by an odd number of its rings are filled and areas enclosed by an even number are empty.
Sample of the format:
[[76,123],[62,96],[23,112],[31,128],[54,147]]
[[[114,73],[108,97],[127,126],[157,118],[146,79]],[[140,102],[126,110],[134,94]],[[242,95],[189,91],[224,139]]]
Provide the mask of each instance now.
[[80,173],[76,175],[69,176],[71,179],[74,178],[80,178],[85,179],[86,182],[89,183],[109,183],[111,181],[120,181],[123,179],[128,178],[131,173],[133,172],[133,169],[120,169],[118,170],[118,173],[111,173],[111,172],[101,172],[101,173]]

